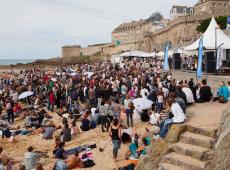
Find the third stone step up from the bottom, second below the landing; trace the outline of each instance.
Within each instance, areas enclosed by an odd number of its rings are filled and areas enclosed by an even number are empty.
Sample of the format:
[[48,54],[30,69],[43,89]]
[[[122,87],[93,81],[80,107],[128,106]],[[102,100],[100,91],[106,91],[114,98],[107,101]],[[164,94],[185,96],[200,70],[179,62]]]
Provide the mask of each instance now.
[[212,148],[214,145],[214,139],[211,137],[185,132],[180,136],[180,142],[196,145],[205,148]]

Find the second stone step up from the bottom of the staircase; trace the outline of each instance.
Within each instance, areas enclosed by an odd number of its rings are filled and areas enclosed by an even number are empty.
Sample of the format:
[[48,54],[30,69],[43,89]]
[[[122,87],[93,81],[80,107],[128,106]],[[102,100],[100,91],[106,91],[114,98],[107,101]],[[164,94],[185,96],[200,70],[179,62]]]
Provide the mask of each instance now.
[[190,145],[182,142],[175,143],[171,146],[171,149],[181,155],[191,156],[198,160],[207,160],[207,152],[209,151],[208,148]]

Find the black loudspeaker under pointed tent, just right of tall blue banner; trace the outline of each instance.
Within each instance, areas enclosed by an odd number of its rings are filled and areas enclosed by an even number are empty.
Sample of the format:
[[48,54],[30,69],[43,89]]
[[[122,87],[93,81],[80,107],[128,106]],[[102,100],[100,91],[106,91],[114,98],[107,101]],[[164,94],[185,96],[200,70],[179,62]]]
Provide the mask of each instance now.
[[216,72],[216,58],[215,52],[205,52],[204,53],[204,71],[206,73]]

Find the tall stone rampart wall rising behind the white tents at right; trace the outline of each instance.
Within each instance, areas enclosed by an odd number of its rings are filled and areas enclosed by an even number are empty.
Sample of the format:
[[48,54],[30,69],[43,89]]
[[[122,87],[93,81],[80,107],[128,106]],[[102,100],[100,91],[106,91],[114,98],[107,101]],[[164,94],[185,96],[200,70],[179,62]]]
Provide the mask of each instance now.
[[217,16],[229,16],[230,9],[225,11],[218,11],[213,14],[203,14],[194,16],[180,17],[173,20],[169,25],[152,34],[146,34],[144,39],[145,51],[152,52],[153,49],[162,50],[166,42],[171,42],[173,48],[187,45],[193,42],[199,34],[197,34],[196,27],[200,21]]

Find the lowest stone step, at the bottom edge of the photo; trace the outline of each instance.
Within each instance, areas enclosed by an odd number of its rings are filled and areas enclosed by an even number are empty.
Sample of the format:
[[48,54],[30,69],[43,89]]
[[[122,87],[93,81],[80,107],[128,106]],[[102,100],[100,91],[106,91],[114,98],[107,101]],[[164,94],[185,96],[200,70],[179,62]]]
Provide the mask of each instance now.
[[171,152],[165,155],[161,163],[168,163],[179,166],[186,170],[204,170],[205,162],[201,162],[198,159],[195,159],[191,156],[184,156],[177,154],[175,152]]

